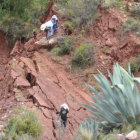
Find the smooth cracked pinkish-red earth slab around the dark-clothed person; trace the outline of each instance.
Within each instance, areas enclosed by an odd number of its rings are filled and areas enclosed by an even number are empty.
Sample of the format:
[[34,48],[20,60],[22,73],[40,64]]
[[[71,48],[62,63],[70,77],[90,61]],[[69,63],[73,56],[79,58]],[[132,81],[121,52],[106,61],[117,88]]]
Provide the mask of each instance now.
[[[29,42],[27,44],[29,45]],[[14,57],[11,61],[11,64],[13,63],[15,65],[11,76],[14,79],[14,88],[27,93],[21,102],[25,100],[25,106],[36,107],[40,111],[44,124],[42,140],[57,139],[59,132],[55,123],[56,113],[63,103],[67,103],[70,107],[67,131],[63,140],[72,139],[80,122],[88,114],[81,105],[88,103],[87,100],[90,98],[87,93],[73,85],[65,71],[59,69],[49,59],[47,53],[35,51],[31,58]],[[18,96],[18,93],[15,94]]]

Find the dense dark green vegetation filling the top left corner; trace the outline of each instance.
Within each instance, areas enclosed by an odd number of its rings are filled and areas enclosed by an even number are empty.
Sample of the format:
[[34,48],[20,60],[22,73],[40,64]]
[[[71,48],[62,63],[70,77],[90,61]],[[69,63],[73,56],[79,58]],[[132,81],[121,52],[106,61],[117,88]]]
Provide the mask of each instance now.
[[37,29],[49,0],[1,0],[0,29],[12,40],[28,39]]

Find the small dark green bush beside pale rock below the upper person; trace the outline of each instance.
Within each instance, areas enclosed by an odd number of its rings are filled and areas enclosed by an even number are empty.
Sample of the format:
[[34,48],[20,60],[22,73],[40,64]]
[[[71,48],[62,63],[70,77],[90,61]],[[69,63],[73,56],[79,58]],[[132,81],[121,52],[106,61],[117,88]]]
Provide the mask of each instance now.
[[58,46],[52,51],[56,55],[68,55],[72,51],[72,44],[73,38],[65,36],[58,40]]

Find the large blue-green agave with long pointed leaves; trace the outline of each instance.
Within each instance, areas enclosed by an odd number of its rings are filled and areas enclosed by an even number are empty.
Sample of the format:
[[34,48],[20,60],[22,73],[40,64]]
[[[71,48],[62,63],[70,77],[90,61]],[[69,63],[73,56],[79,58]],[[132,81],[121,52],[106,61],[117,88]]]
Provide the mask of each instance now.
[[113,67],[113,75],[108,72],[110,81],[99,71],[95,76],[100,86],[98,92],[87,85],[93,101],[85,105],[99,123],[102,124],[138,124],[140,123],[140,93],[137,83],[140,78],[134,78],[130,66],[128,72],[118,63]]

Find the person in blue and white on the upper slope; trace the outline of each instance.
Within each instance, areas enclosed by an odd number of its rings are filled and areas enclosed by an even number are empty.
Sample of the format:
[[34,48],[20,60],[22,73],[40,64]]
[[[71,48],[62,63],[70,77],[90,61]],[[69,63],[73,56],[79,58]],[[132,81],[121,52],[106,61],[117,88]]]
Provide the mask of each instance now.
[[41,25],[40,29],[46,33],[46,38],[49,38],[50,36],[54,35],[54,32],[58,28],[57,23],[58,18],[56,15],[53,15],[51,20]]

